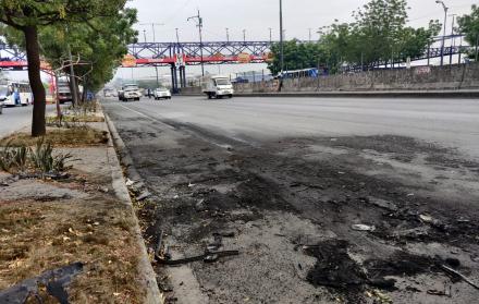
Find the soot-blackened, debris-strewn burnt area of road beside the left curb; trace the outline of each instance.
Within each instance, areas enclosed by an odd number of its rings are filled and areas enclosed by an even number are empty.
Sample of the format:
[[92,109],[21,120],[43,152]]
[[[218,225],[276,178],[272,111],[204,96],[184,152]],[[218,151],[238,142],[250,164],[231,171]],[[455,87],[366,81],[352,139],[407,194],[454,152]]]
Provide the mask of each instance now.
[[[172,303],[474,303],[479,166],[403,136],[248,145],[109,111],[151,192],[137,206]],[[220,238],[219,238],[220,236]],[[219,241],[220,240],[220,241]]]

